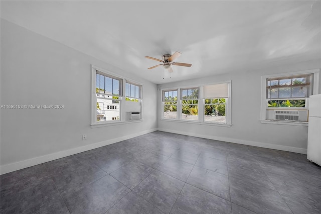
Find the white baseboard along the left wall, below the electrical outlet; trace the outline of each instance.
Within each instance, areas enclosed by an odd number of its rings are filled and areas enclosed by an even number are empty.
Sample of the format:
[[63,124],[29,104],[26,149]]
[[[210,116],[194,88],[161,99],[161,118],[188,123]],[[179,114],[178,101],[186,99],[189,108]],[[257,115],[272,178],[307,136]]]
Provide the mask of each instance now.
[[93,144],[89,144],[86,146],[81,146],[81,147],[77,147],[77,148],[73,148],[73,149],[69,149],[69,150],[64,150],[64,151],[60,151],[60,152],[56,152],[56,153],[52,153],[52,154],[48,154],[48,155],[44,155],[44,156],[40,156],[40,157],[36,157],[36,158],[31,158],[31,159],[27,159],[27,160],[23,160],[23,161],[19,161],[19,162],[15,162],[15,163],[11,163],[11,164],[7,164],[7,165],[3,165],[0,166],[0,174],[6,174],[9,172],[13,172],[19,169],[24,169],[27,167],[31,167],[31,166],[35,166],[38,164],[42,164],[42,163],[46,163],[48,161],[52,161],[52,160],[56,160],[59,158],[63,158],[63,157],[67,157],[70,155],[74,155],[74,154],[78,154],[81,152],[85,152],[91,149],[96,149],[102,146],[107,146],[113,143],[117,143],[120,141],[124,141],[130,138],[134,138],[134,137],[138,137],[140,135],[144,135],[144,134],[148,134],[151,132],[157,131],[157,129],[150,129],[150,130],[145,130],[139,133],[135,133],[135,134],[131,134],[131,135],[126,135],[126,136],[121,136],[119,138],[114,138],[114,139],[109,139],[106,141],[101,141],[98,143],[93,143]]

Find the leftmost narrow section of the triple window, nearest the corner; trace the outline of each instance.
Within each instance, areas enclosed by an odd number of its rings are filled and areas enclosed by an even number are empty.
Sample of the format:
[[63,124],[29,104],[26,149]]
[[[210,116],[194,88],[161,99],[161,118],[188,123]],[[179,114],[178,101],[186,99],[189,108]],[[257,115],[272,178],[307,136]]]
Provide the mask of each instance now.
[[163,118],[177,119],[177,89],[163,91]]

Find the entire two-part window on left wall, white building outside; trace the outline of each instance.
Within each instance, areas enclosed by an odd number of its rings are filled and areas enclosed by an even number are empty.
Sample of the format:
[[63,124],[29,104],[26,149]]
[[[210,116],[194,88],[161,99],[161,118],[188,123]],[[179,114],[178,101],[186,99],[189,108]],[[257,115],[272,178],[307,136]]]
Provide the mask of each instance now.
[[92,66],[92,94],[92,127],[131,121],[131,112],[142,120],[142,85]]

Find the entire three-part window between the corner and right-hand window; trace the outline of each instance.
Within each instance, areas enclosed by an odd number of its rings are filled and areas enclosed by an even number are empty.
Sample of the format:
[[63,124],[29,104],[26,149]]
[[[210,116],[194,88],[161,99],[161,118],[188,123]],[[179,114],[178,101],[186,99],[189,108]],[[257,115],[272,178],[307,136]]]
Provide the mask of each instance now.
[[231,81],[162,89],[162,119],[231,126],[230,97]]

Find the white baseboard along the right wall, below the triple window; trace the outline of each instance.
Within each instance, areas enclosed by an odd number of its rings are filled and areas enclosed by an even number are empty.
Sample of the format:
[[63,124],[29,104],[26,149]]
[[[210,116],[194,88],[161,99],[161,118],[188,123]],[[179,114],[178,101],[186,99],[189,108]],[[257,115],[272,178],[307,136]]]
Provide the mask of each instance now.
[[169,132],[169,133],[175,133],[175,134],[181,134],[181,135],[187,135],[187,136],[193,136],[193,137],[199,137],[199,138],[206,138],[206,139],[217,140],[217,141],[225,141],[225,142],[230,142],[230,143],[244,144],[244,145],[248,145],[248,146],[257,146],[257,147],[262,147],[262,148],[267,148],[267,149],[276,149],[276,150],[295,152],[295,153],[300,153],[300,154],[305,154],[305,155],[307,154],[307,149],[291,147],[291,146],[282,146],[282,145],[261,143],[261,142],[255,142],[255,141],[239,140],[239,139],[234,139],[234,138],[210,136],[210,135],[201,135],[201,134],[196,134],[196,133],[181,132],[181,131],[162,129],[162,128],[158,128],[157,130],[162,131],[162,132]]

